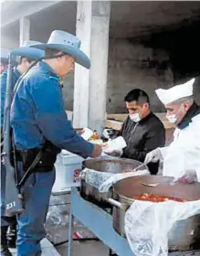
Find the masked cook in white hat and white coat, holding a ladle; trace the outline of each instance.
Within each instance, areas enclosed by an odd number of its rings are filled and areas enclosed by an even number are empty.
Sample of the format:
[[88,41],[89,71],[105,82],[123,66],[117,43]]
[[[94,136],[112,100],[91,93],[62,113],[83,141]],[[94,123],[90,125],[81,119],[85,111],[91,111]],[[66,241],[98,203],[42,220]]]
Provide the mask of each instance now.
[[171,89],[156,90],[166,118],[176,125],[174,141],[146,155],[144,163],[163,161],[163,176],[184,183],[200,181],[200,107],[193,99],[195,79]]

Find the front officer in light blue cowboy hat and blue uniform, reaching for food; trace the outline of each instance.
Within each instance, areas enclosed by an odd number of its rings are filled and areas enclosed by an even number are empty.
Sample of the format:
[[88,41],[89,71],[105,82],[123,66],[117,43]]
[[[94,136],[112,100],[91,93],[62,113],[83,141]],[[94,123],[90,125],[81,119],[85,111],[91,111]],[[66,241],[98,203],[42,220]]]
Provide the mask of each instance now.
[[74,62],[89,69],[88,57],[79,49],[78,37],[53,31],[45,49],[45,58],[21,80],[11,107],[11,126],[16,150],[22,156],[23,169],[42,157],[23,187],[25,210],[17,217],[17,251],[20,256],[40,255],[39,241],[45,237],[44,222],[52,186],[54,163],[61,149],[82,157],[97,157],[100,145],[90,144],[75,132],[65,112],[61,85]]

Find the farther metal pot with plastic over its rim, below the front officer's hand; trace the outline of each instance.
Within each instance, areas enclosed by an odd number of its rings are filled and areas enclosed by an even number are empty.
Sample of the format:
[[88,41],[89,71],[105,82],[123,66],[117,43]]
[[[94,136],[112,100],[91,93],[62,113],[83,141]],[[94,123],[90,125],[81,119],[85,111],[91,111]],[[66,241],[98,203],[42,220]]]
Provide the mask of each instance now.
[[[89,159],[83,162],[83,168],[93,169],[99,172],[108,172],[112,174],[119,174],[125,170],[134,169],[138,166],[142,165],[141,162],[132,159],[123,159],[123,158],[115,158],[115,159]],[[146,165],[142,165],[140,170],[148,170]],[[89,200],[100,207],[110,207],[111,204],[107,202],[109,197],[112,197],[112,190],[110,189],[107,193],[100,193],[96,187],[92,187],[85,182],[85,180],[81,180],[80,182],[80,196],[84,197],[86,200]]]

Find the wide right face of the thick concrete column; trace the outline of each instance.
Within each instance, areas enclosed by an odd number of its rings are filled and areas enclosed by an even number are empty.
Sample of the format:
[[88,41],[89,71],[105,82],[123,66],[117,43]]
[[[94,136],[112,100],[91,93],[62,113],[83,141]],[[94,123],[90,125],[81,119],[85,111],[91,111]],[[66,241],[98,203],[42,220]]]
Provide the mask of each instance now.
[[89,127],[102,132],[106,119],[106,94],[111,2],[94,1],[91,22]]

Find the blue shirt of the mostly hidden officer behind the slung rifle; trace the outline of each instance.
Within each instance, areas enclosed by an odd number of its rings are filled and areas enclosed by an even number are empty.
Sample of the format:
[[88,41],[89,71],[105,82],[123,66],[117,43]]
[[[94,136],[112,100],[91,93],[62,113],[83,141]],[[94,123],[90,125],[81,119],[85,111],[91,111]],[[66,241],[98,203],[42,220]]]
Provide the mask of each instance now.
[[[20,76],[21,76],[21,74],[16,69],[16,67],[13,68],[13,74],[12,74],[13,90],[14,90],[14,87],[16,85],[16,81],[19,79]],[[7,71],[5,71],[0,76],[0,83],[1,83],[1,127],[3,126],[3,122],[4,122],[6,82],[7,82]]]

